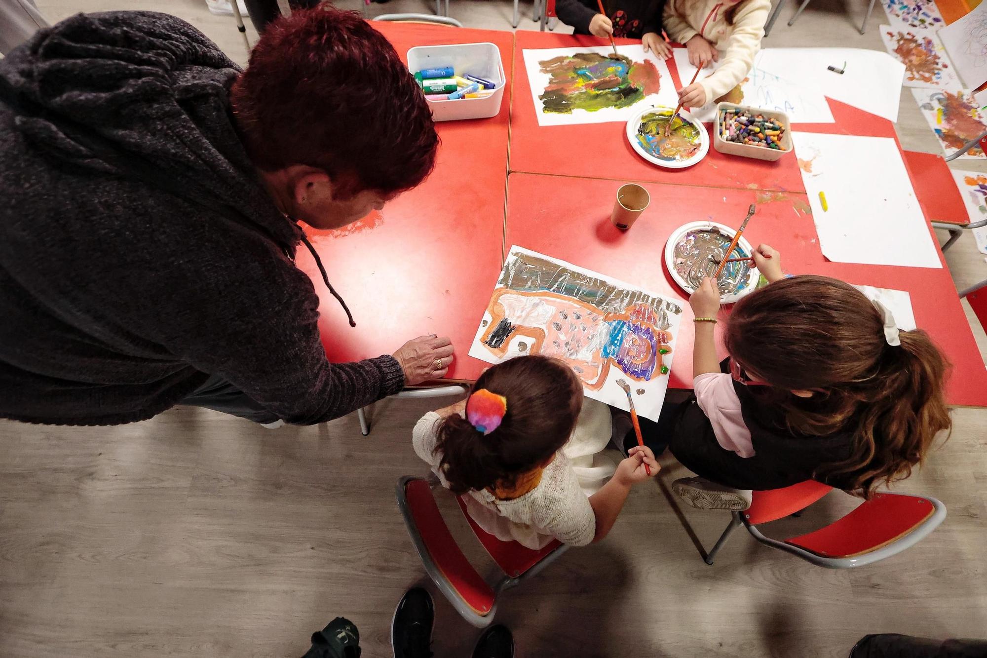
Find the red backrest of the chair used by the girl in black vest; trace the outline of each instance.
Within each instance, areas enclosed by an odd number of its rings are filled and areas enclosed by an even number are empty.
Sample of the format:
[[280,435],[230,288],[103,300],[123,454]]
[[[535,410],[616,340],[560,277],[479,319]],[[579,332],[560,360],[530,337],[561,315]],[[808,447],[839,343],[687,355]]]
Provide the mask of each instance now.
[[877,494],[839,521],[785,542],[823,557],[854,557],[907,535],[935,511],[925,498]]

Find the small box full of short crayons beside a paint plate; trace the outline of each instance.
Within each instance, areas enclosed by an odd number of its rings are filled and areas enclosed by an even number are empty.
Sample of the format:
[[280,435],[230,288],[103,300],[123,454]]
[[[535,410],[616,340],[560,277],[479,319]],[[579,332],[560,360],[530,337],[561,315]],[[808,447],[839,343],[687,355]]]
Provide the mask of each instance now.
[[718,103],[713,147],[729,155],[778,160],[792,151],[789,116],[774,110]]

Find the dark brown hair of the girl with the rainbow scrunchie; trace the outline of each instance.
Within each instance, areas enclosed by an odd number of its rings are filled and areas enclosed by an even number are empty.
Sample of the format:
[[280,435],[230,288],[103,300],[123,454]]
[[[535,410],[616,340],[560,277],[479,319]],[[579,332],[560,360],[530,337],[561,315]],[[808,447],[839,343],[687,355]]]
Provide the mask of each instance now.
[[473,385],[473,390],[481,388],[507,399],[498,428],[481,434],[458,414],[438,428],[439,467],[456,493],[513,488],[519,475],[566,445],[582,409],[582,384],[575,373],[563,362],[540,355],[493,366]]

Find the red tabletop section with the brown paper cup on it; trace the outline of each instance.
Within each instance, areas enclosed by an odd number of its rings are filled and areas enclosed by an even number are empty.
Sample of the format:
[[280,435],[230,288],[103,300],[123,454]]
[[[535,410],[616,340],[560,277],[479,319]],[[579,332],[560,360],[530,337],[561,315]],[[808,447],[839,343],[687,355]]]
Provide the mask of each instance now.
[[[511,174],[507,190],[505,245],[518,245],[683,299],[682,325],[674,345],[669,385],[692,387],[693,314],[685,291],[664,267],[665,241],[676,227],[713,219],[737,227],[747,207],[757,214],[744,236],[769,242],[792,274],[820,274],[879,288],[908,290],[916,323],[929,332],[952,362],[950,404],[987,406],[987,370],[963,314],[949,270],[826,261],[817,244],[804,194],[647,184],[651,206],[626,232],[610,224],[618,183],[563,176]],[[725,356],[725,355],[722,355]]]

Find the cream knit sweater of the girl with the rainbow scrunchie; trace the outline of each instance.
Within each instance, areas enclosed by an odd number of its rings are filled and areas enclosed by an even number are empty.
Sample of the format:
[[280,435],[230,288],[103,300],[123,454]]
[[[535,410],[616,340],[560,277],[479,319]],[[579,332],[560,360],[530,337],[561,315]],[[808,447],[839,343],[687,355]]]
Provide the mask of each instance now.
[[[431,466],[442,486],[448,487],[438,468],[442,453],[435,452],[439,421],[441,418],[434,411],[422,416],[412,433],[412,443],[415,452]],[[601,449],[606,446],[610,440],[610,411],[605,404],[584,400],[570,443],[591,443],[584,438],[587,429],[593,435],[592,443],[602,444]],[[464,496],[470,516],[491,535],[504,541],[513,539],[536,550],[556,538],[573,546],[584,546],[592,541],[596,534],[596,517],[565,452],[565,448],[556,452],[555,458],[542,471],[538,486],[523,496],[500,500],[487,490],[470,491]],[[612,466],[609,472],[612,474]]]

